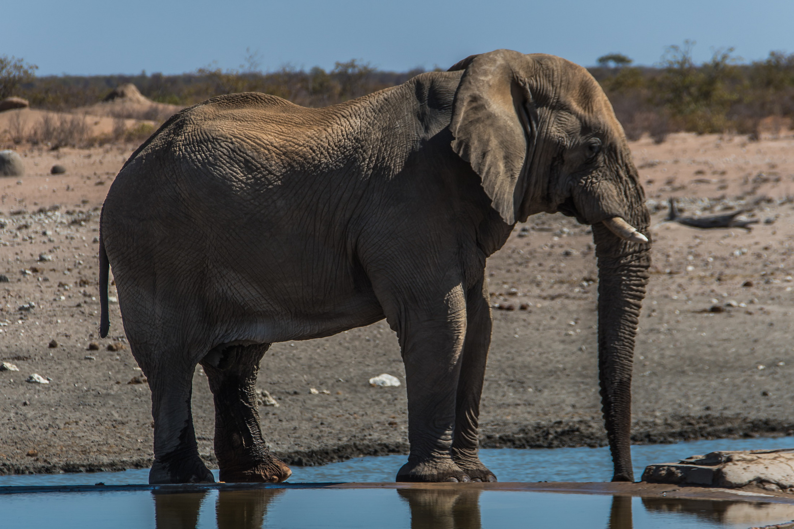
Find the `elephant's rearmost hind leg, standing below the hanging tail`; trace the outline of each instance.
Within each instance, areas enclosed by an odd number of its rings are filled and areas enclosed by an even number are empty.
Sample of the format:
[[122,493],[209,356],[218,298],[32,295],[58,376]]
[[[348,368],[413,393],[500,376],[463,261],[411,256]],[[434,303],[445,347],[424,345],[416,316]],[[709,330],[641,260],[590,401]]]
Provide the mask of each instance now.
[[198,457],[193,429],[195,365],[141,366],[152,390],[154,418],[154,462],[149,483],[214,483],[212,473]]

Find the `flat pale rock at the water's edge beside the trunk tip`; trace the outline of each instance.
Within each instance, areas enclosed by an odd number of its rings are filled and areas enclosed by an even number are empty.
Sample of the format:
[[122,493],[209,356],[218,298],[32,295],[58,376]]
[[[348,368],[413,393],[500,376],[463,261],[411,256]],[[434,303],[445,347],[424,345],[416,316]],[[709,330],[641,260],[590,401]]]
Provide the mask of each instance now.
[[757,485],[771,491],[794,493],[794,448],[693,455],[677,463],[646,466],[642,481],[725,489]]

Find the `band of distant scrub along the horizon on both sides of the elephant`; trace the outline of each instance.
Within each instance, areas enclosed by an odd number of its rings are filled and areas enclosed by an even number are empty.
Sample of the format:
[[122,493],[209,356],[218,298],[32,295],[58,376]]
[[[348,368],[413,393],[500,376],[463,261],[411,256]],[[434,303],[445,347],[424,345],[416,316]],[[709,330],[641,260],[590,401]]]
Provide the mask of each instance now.
[[[590,68],[630,139],[647,133],[663,141],[675,131],[754,134],[761,121],[769,117],[780,118],[781,123],[794,117],[794,54],[770,52],[767,59],[742,64],[733,55],[733,48],[726,48],[715,52],[706,63],[696,64],[692,59],[694,45],[687,40],[683,45],[669,46],[655,67],[632,66],[630,57],[610,53],[600,56],[598,66]],[[13,78],[17,79],[16,95],[27,98],[34,107],[52,110],[93,105],[127,82],[153,101],[173,105],[193,105],[220,94],[256,91],[318,107],[395,86],[422,73],[421,69],[378,71],[357,59],[337,62],[330,71],[283,67],[264,73],[257,71],[255,57],[247,62],[238,69],[204,67],[183,75],[141,72],[33,78],[30,68],[35,67],[25,67],[21,59],[12,58],[6,63],[0,61],[0,72],[2,64],[6,64],[6,71],[26,71],[26,77]],[[13,67],[8,66],[11,63]],[[160,123],[167,116],[152,109],[135,117]],[[124,136],[121,132],[118,135]]]

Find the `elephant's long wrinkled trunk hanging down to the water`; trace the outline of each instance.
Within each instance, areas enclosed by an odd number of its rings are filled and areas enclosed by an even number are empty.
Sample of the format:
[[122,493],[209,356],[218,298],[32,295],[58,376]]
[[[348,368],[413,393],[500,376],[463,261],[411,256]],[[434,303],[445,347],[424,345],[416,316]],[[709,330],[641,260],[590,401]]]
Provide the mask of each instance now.
[[[642,188],[631,197],[626,224],[646,232],[649,213]],[[632,204],[631,202],[635,202]],[[601,405],[615,465],[612,481],[634,481],[631,466],[631,371],[642,299],[650,266],[650,244],[626,236],[610,220],[593,224],[599,266],[598,344]],[[618,223],[620,224],[620,223]]]

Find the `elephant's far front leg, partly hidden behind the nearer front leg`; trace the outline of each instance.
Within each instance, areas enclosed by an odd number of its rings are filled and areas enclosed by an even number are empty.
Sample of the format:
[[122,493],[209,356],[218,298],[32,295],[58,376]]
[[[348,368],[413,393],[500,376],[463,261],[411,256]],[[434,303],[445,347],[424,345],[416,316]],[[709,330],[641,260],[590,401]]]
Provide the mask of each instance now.
[[[484,283],[484,282],[483,282]],[[481,284],[469,290],[466,299],[466,340],[457,382],[455,438],[452,458],[472,481],[496,481],[491,470],[480,462],[480,395],[483,393],[485,362],[491,345],[491,307],[488,289]]]

